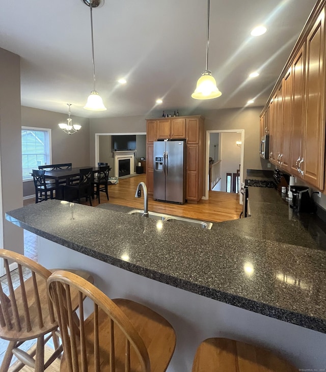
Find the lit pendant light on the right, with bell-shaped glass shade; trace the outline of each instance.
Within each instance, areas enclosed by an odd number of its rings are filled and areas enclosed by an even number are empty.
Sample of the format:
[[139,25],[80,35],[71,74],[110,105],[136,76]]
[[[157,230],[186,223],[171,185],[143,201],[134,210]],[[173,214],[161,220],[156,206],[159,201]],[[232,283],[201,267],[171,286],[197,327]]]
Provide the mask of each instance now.
[[208,70],[208,45],[209,45],[209,0],[207,0],[207,45],[206,45],[206,70],[197,81],[197,87],[192,97],[195,99],[212,99],[222,95],[211,71]]

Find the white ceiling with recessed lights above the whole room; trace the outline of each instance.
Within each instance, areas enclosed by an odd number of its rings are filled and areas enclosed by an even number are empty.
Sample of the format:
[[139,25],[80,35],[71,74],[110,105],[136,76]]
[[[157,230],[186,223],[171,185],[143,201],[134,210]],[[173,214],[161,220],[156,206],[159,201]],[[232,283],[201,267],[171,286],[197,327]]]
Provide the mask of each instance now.
[[[264,105],[316,0],[211,0],[208,69],[220,98],[191,98],[206,63],[206,0],[105,0],[93,9],[96,90],[106,111],[83,108],[93,89],[90,10],[82,0],[1,0],[0,47],[21,56],[21,103],[88,118],[157,109]],[[252,37],[263,23],[267,33]],[[250,72],[260,75],[248,79]],[[117,79],[126,77],[127,84]],[[198,107],[196,109],[196,107]]]

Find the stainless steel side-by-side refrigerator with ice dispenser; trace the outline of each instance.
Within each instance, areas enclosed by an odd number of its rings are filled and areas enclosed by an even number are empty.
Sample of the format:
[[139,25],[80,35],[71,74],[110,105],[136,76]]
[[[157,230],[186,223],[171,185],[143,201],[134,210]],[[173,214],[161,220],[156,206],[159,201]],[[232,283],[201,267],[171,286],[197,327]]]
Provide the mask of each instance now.
[[155,200],[185,202],[185,140],[154,142]]

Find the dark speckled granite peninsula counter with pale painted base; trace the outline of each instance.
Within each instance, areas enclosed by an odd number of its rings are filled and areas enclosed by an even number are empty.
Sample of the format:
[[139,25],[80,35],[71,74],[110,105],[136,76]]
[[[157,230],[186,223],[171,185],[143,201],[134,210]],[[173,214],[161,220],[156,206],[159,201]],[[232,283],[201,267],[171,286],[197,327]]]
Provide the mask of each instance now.
[[108,296],[165,316],[177,333],[168,371],[191,370],[212,336],[273,349],[297,368],[326,368],[322,233],[289,217],[276,190],[250,191],[253,217],[212,230],[56,200],[6,216],[39,236],[42,265],[89,270]]

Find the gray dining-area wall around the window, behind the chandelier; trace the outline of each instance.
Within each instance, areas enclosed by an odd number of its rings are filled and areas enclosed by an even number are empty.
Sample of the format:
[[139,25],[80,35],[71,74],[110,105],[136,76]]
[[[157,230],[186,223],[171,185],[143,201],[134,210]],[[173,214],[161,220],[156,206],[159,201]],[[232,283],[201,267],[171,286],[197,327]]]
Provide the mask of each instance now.
[[[21,125],[51,129],[52,164],[72,163],[72,166],[76,167],[94,165],[94,162],[90,163],[89,119],[74,116],[73,106],[71,106],[71,112],[72,124],[80,124],[82,126],[74,134],[69,135],[58,126],[59,123],[67,122],[68,109],[67,114],[65,114],[21,106]],[[33,181],[23,182],[23,196],[34,194]]]

